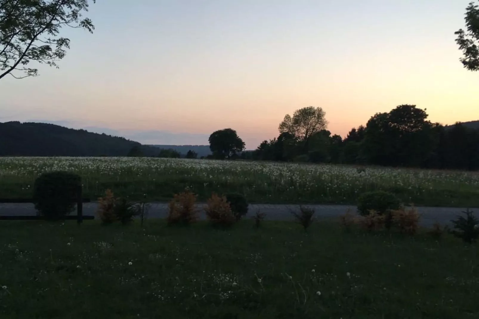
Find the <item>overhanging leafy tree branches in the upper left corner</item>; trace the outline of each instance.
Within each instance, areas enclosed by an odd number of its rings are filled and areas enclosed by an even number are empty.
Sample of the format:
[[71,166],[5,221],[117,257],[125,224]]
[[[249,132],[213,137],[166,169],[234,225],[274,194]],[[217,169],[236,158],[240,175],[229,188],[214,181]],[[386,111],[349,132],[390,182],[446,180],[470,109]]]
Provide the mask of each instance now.
[[93,32],[90,19],[80,20],[82,11],[88,0],[0,0],[0,79],[36,76],[38,69],[27,68],[31,61],[57,67],[70,47],[68,38],[58,37],[63,26]]

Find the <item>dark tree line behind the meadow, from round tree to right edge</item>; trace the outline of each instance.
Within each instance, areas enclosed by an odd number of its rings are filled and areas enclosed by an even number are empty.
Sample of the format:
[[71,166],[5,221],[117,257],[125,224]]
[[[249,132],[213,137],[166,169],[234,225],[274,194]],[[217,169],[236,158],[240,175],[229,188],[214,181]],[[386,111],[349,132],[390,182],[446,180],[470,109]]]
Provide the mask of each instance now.
[[244,151],[235,130],[214,132],[211,158],[478,170],[479,123],[444,126],[427,117],[426,110],[403,104],[373,115],[342,138],[327,130],[320,107],[309,106],[286,115],[279,136],[254,151]]

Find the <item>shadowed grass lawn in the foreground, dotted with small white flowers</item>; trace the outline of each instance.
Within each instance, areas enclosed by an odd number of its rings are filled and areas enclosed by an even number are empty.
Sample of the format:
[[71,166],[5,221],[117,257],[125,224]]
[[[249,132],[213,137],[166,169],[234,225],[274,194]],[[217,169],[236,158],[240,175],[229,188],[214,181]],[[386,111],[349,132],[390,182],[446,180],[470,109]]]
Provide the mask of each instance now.
[[[333,223],[0,223],[0,318],[479,318],[479,249]],[[3,286],[3,287],[2,287]]]

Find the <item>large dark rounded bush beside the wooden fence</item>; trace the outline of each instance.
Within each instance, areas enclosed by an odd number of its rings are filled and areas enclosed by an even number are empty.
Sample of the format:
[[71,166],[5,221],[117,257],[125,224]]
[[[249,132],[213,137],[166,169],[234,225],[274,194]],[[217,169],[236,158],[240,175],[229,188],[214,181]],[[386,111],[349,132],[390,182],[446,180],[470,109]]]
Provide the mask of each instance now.
[[34,183],[33,200],[39,215],[58,220],[68,215],[77,202],[81,178],[66,171],[41,174]]

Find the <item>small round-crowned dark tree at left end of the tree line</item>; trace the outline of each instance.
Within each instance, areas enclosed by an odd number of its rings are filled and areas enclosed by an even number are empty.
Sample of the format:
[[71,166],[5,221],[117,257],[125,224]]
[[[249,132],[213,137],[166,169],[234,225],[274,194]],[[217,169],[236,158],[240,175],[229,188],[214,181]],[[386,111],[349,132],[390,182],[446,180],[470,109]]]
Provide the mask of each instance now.
[[235,130],[225,128],[213,132],[208,138],[210,149],[213,152],[213,158],[225,159],[231,158],[238,152],[242,151],[245,144]]

